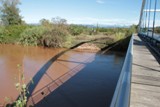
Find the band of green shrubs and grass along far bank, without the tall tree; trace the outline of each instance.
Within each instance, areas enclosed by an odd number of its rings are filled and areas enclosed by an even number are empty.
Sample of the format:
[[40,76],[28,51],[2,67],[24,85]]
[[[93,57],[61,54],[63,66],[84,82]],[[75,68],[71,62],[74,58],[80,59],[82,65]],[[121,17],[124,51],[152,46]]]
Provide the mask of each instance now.
[[40,25],[0,26],[0,43],[68,48],[80,42],[98,39],[94,43],[98,47],[103,47],[129,36],[135,31],[135,26],[97,28],[68,25],[64,19],[55,19],[52,22],[42,20]]

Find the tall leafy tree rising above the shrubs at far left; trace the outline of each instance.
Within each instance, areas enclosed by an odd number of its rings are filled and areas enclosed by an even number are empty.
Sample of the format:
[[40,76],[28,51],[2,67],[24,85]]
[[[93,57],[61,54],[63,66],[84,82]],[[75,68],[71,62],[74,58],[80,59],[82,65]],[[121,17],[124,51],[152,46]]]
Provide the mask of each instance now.
[[4,25],[20,25],[23,23],[19,15],[19,0],[0,0],[0,18]]

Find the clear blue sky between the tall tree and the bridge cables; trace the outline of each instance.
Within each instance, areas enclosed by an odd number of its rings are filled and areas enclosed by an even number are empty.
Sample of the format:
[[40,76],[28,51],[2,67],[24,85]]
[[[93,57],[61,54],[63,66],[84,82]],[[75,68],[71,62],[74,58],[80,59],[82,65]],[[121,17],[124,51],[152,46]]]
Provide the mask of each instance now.
[[142,0],[21,0],[27,23],[65,18],[69,24],[138,24]]

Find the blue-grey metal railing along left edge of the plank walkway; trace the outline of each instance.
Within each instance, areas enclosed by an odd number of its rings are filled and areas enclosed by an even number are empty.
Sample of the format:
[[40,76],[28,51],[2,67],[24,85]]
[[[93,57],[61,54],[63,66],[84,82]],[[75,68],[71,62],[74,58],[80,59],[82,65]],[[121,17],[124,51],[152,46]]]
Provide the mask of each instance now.
[[110,107],[129,107],[130,104],[133,36],[134,35],[132,35],[130,39],[125,61]]

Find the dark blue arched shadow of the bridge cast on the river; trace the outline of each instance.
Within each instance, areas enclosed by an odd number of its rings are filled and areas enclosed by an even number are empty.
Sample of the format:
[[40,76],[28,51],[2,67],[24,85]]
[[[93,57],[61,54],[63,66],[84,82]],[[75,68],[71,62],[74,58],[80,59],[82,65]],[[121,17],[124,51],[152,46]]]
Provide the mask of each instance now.
[[[96,40],[92,40],[96,41]],[[92,42],[87,41],[87,42]],[[48,68],[55,62],[71,62],[83,64],[85,67],[76,75],[57,87],[53,92],[44,95],[43,100],[34,106],[37,107],[106,107],[110,105],[118,77],[123,65],[124,54],[108,52],[103,49],[95,55],[90,63],[67,61],[58,59],[68,51],[84,44],[82,42],[68,50],[62,51],[51,58],[33,77],[34,84],[29,83],[29,94],[32,93],[46,73]],[[117,43],[115,43],[117,45]],[[112,44],[111,46],[114,46]],[[106,48],[107,49],[107,48]],[[43,95],[44,93],[41,92]]]

